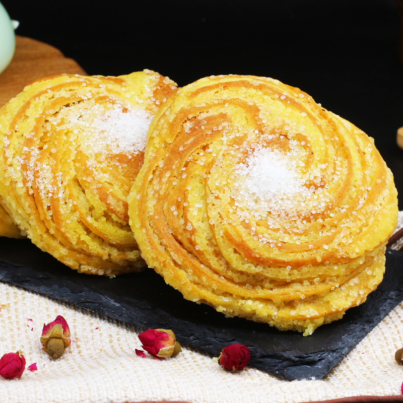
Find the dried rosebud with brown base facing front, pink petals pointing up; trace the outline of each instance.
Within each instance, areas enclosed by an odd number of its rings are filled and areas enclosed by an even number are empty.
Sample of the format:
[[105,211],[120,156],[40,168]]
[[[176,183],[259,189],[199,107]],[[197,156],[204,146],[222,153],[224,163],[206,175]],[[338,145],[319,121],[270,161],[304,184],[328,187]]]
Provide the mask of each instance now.
[[53,322],[43,325],[41,343],[52,358],[60,358],[71,344],[69,325],[58,315]]

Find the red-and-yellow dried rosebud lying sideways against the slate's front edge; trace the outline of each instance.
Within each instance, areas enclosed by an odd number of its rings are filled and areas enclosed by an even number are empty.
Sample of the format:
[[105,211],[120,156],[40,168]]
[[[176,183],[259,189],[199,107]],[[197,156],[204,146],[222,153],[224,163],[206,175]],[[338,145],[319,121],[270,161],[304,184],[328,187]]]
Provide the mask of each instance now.
[[180,344],[175,333],[166,329],[148,329],[139,334],[142,347],[154,357],[169,358],[180,353]]

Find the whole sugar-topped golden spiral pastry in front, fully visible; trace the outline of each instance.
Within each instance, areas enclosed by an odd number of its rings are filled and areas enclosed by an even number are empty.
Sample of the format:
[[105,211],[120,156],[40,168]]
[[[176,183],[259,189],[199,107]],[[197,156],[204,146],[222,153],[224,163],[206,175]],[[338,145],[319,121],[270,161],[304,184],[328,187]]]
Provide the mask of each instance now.
[[219,76],[154,117],[129,217],[186,299],[310,334],[381,282],[397,198],[353,124],[277,80]]

